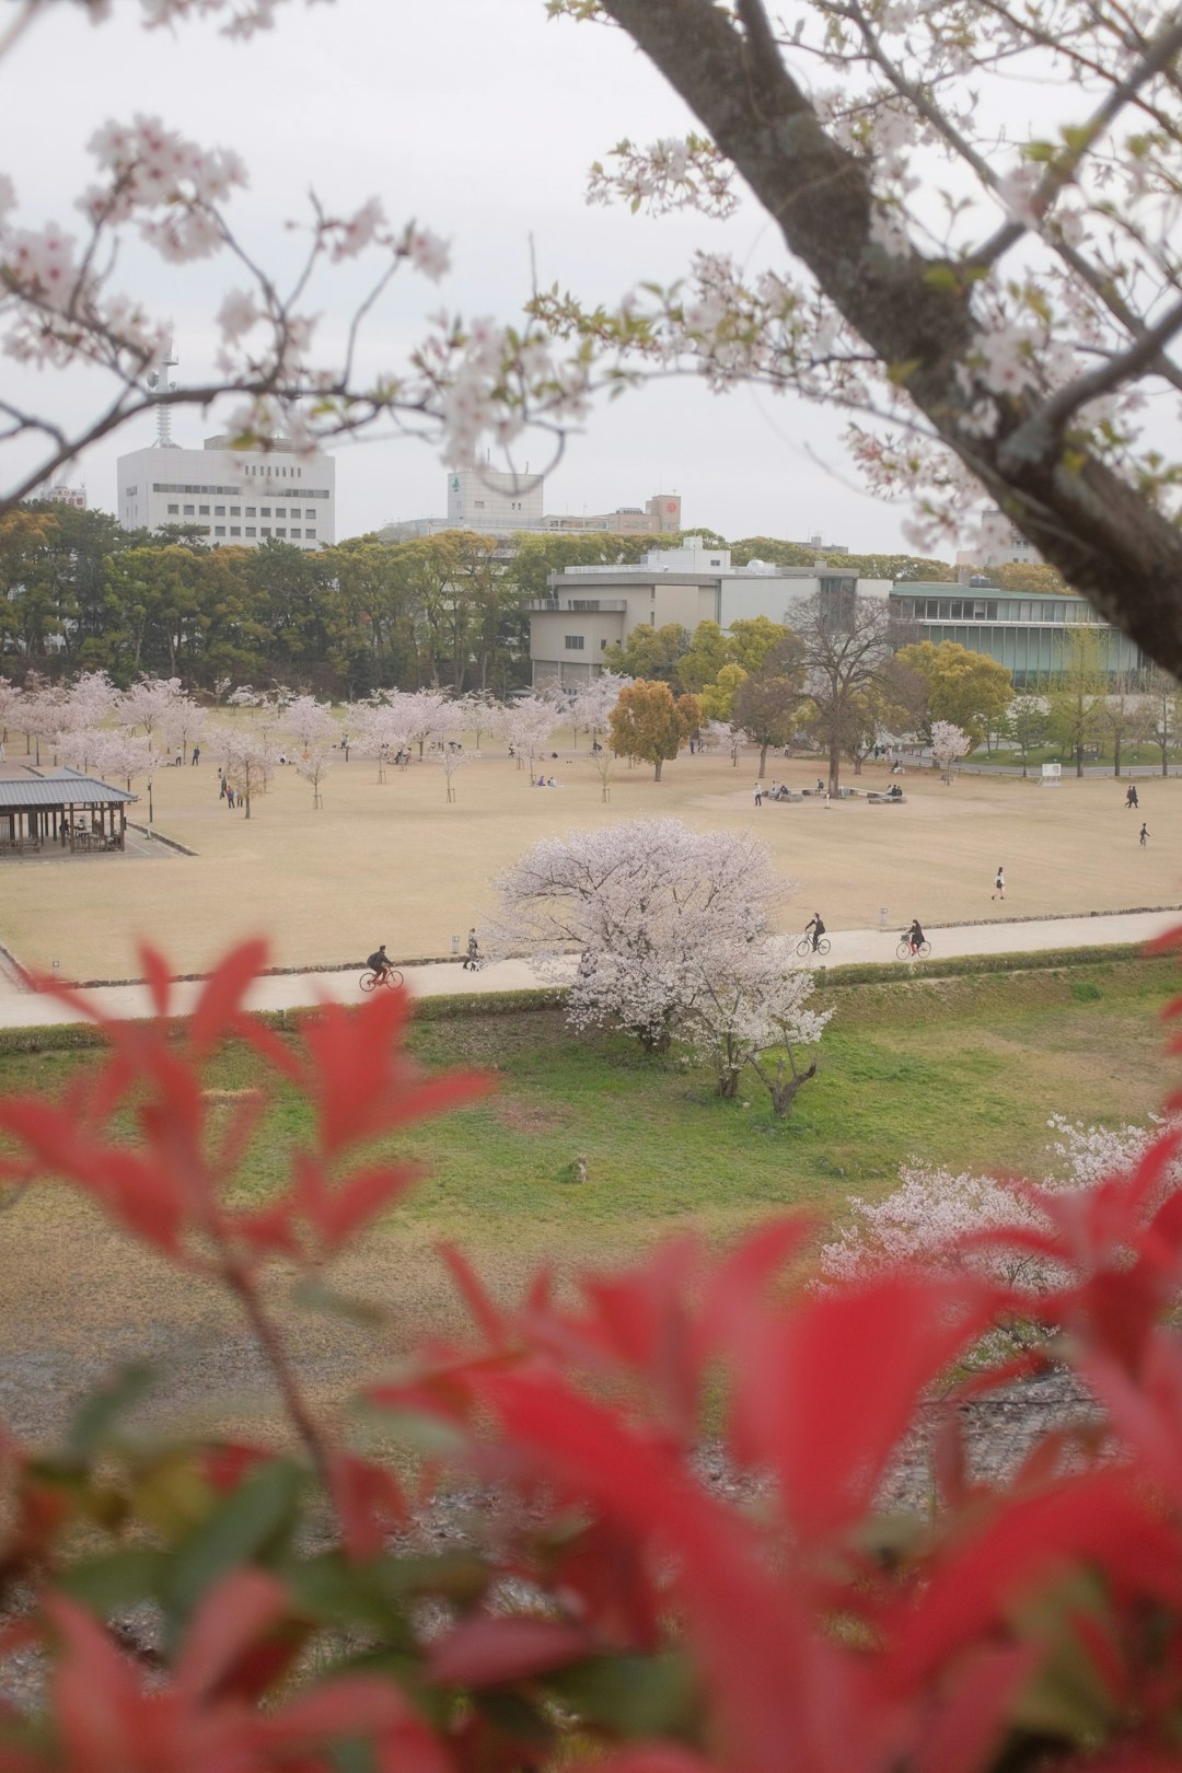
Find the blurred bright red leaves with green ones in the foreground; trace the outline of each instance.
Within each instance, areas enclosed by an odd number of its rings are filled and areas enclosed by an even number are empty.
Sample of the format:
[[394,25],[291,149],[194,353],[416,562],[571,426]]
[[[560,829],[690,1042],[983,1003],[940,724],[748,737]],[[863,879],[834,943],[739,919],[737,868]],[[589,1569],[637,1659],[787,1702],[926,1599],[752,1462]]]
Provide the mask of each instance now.
[[[383,1433],[429,1425],[452,1475],[494,1480],[500,1502],[486,1544],[404,1550],[390,1541],[402,1488],[308,1406],[261,1273],[314,1269],[363,1230],[413,1179],[365,1147],[484,1082],[415,1071],[400,993],[324,1009],[287,1044],[243,1012],[261,957],[230,954],[181,1028],[105,1023],[110,1057],[66,1101],[0,1103],[18,1152],[0,1175],[66,1177],[234,1293],[303,1443],[287,1457],[131,1438],[119,1406],[135,1376],[89,1399],[51,1454],[0,1440],[0,1674],[37,1645],[50,1681],[43,1714],[0,1706],[0,1773],[1182,1764],[1182,1344],[1168,1321],[1182,1195],[1145,1218],[1175,1133],[1134,1174],[1042,1202],[1038,1246],[1070,1278],[1038,1298],[966,1273],[817,1293],[799,1284],[801,1218],[721,1259],[670,1243],[587,1277],[578,1303],[540,1277],[512,1310],[448,1252],[475,1344],[424,1349],[367,1406]],[[168,968],[147,968],[163,1016]],[[202,1090],[227,1037],[315,1110],[262,1209],[227,1191],[266,1101],[223,1126]],[[1072,1367],[1102,1408],[998,1489],[966,1472],[966,1394],[948,1374],[1012,1312],[1056,1326],[1038,1358]],[[971,1388],[1015,1372],[975,1372]],[[884,1519],[875,1493],[937,1390],[939,1507]],[[719,1410],[744,1505],[695,1472]]]

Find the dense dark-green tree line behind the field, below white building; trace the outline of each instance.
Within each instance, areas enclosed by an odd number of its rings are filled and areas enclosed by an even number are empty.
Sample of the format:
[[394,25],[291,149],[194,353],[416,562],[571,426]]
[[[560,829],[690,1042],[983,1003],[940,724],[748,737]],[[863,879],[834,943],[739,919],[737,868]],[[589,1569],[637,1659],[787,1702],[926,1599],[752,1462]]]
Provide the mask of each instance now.
[[[704,534],[723,544],[716,532]],[[32,502],[0,518],[0,663],[51,677],[105,670],[218,679],[278,677],[319,695],[441,688],[505,695],[528,683],[528,605],[571,566],[636,564],[670,535],[539,535],[512,543],[448,530],[413,541],[358,535],[308,551],[209,548],[191,527],[124,530],[103,511]],[[744,564],[812,564],[773,537],[734,543]],[[943,560],[833,555],[868,576],[939,580]]]

